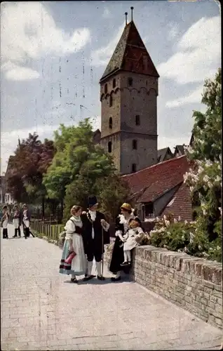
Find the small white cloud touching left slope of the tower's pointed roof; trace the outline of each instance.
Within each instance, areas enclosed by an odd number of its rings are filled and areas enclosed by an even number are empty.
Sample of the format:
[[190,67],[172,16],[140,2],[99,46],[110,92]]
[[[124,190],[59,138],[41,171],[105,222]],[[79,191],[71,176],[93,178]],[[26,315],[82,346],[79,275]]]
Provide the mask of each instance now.
[[107,44],[107,46],[103,46],[92,53],[92,64],[94,66],[107,65],[110,58],[112,58],[112,54],[114,53],[114,49],[121,38],[121,34],[123,33],[123,29],[126,25],[126,22],[119,27],[118,32],[113,37],[113,39]]

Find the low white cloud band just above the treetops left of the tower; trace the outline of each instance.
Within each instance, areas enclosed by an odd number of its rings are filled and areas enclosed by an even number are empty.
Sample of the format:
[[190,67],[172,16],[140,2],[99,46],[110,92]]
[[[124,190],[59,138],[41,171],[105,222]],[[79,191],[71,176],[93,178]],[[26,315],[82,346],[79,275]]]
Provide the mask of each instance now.
[[[100,128],[100,116],[90,117],[90,121],[93,125],[93,131],[97,128]],[[65,126],[74,126],[77,125],[79,121],[70,121],[65,123]],[[53,138],[53,131],[56,131],[59,128],[60,124],[43,124],[37,127],[16,129],[14,131],[1,131],[1,174],[6,172],[8,158],[11,154],[14,154],[14,151],[18,145],[18,138],[20,140],[26,139],[29,136],[29,133],[36,132],[39,135],[41,140],[45,138]]]

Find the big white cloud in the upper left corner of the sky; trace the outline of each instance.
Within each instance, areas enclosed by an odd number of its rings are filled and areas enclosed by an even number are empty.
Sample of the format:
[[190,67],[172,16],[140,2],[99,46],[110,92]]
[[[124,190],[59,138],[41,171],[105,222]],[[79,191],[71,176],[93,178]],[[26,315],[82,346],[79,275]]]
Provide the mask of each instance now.
[[72,34],[58,28],[41,2],[6,2],[1,6],[1,60],[17,65],[8,75],[10,79],[13,74],[16,80],[36,78],[35,71],[23,67],[27,60],[75,53],[89,40],[88,28],[76,29]]

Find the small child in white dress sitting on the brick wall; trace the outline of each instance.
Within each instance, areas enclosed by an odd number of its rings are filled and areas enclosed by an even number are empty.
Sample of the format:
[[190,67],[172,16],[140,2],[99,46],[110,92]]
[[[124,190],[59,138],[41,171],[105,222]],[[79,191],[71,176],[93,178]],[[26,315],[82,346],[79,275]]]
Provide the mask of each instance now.
[[130,229],[123,235],[124,239],[124,262],[121,265],[130,265],[131,251],[138,245],[138,241],[142,234],[144,234],[141,221],[139,218],[131,218],[129,221]]

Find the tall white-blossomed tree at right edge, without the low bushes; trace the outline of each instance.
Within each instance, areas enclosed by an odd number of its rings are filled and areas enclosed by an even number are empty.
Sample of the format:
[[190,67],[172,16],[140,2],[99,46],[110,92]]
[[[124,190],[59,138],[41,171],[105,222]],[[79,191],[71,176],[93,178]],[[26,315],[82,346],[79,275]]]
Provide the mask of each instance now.
[[194,143],[187,155],[194,167],[185,175],[191,196],[197,198],[196,231],[208,233],[210,241],[222,236],[222,71],[205,81],[202,102],[205,113],[194,112]]

